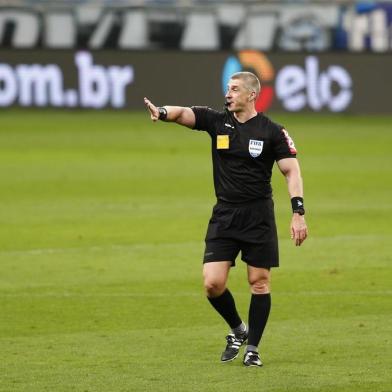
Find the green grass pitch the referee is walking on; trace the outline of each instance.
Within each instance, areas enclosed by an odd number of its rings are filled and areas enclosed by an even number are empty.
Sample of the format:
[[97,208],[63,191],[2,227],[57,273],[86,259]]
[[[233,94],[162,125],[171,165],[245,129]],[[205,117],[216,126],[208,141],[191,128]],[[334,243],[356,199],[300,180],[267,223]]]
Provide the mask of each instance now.
[[272,117],[299,149],[310,238],[289,240],[275,171],[281,268],[265,366],[246,369],[219,362],[201,284],[208,136],[146,113],[1,113],[1,391],[392,390],[392,117]]

